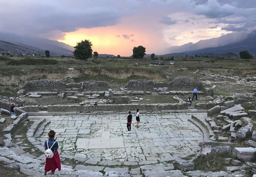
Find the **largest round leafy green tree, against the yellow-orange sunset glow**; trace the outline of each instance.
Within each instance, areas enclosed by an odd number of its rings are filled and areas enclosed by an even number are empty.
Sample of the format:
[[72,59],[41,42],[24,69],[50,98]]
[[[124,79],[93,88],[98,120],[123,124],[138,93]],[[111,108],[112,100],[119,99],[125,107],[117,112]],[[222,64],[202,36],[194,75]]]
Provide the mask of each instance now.
[[73,53],[76,59],[86,60],[92,57],[92,42],[90,42],[90,40],[77,42],[74,48]]

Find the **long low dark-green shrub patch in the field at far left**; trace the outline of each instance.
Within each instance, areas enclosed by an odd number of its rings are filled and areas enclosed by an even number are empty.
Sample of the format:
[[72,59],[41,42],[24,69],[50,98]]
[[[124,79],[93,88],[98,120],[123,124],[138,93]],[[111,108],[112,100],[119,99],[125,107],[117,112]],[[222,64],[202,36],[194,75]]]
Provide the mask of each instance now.
[[53,65],[58,64],[57,60],[54,59],[34,59],[34,58],[23,58],[21,60],[9,60],[8,65]]

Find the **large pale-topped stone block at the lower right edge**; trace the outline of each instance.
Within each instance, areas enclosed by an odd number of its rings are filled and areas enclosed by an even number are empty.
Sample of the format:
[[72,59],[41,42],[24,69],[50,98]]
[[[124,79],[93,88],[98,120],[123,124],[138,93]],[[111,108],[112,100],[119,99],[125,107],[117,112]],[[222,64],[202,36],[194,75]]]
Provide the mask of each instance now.
[[234,158],[240,159],[244,162],[254,160],[255,154],[256,154],[256,149],[252,147],[234,148],[232,152],[232,156]]

